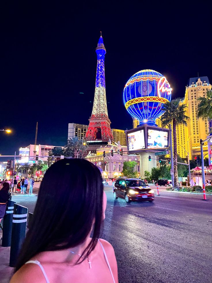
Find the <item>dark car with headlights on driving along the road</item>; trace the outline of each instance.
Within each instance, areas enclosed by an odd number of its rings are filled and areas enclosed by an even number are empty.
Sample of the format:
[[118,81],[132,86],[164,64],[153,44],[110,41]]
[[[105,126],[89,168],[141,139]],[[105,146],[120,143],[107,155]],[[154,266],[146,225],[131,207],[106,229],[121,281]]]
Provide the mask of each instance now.
[[137,178],[118,178],[113,185],[114,199],[124,198],[126,203],[131,201],[154,200],[154,190]]

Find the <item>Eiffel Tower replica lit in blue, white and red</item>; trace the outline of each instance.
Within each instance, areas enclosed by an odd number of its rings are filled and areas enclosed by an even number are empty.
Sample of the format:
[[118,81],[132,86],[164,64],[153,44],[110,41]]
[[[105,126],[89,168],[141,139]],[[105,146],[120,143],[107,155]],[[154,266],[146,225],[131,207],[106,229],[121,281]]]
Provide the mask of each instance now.
[[96,149],[111,143],[113,135],[111,132],[111,121],[107,114],[107,100],[105,90],[105,53],[102,33],[96,48],[97,68],[96,85],[94,93],[94,104],[92,114],[89,119],[88,130],[85,135],[88,150],[96,153]]

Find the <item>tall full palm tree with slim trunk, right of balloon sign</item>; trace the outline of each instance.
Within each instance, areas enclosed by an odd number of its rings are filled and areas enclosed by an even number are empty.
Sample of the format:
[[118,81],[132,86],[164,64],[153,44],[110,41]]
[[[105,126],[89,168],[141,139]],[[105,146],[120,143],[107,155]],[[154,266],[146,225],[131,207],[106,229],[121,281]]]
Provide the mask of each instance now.
[[[177,132],[176,128],[177,125],[183,124],[187,126],[187,120],[189,117],[186,115],[186,104],[181,103],[180,98],[176,98],[171,100],[170,102],[166,102],[162,110],[164,111],[163,115],[161,116],[161,124],[162,127],[166,125],[172,124],[173,127],[173,163],[174,163],[174,188],[179,188],[179,181],[178,181],[178,172],[177,172]],[[172,138],[172,137],[170,137]]]

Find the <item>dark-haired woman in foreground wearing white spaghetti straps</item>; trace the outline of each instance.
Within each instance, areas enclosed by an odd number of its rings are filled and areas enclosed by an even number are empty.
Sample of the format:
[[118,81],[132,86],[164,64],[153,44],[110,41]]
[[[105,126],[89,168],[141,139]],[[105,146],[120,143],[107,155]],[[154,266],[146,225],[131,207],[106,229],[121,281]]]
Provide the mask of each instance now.
[[94,164],[83,159],[55,162],[41,182],[10,282],[117,283],[113,247],[99,239],[106,204]]

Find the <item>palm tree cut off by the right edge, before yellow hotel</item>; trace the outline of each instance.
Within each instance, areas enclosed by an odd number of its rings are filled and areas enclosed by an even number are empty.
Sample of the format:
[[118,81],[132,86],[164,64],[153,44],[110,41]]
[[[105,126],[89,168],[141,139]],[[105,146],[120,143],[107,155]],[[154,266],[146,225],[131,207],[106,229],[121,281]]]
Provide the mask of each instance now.
[[[206,97],[199,97],[197,108],[197,117],[208,120],[212,119],[212,90],[206,92]],[[210,128],[210,133],[212,132]]]

